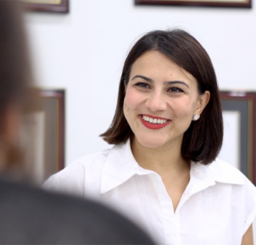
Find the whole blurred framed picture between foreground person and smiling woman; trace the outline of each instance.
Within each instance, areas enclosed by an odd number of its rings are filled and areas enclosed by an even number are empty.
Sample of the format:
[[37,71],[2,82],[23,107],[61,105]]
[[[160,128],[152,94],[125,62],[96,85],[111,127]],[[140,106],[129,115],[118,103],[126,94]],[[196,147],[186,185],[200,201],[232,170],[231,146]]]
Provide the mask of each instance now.
[[65,90],[36,88],[34,95],[22,145],[31,175],[42,184],[65,167]]

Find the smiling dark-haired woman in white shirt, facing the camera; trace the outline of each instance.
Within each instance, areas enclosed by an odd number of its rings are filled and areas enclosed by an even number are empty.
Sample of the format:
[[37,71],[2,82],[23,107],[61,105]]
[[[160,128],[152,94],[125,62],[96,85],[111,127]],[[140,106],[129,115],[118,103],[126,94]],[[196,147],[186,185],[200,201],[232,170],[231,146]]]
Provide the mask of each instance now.
[[128,54],[112,149],[85,156],[44,184],[122,210],[160,243],[253,244],[255,186],[216,159],[222,109],[211,60],[183,30],[145,34]]

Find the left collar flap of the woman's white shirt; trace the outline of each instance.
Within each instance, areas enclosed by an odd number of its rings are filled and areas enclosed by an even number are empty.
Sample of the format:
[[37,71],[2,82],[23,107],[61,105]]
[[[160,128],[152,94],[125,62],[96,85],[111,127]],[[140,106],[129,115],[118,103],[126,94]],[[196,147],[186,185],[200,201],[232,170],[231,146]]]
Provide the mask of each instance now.
[[123,184],[133,175],[145,175],[153,171],[143,169],[136,162],[130,147],[130,140],[110,149],[102,170],[100,194],[104,194]]

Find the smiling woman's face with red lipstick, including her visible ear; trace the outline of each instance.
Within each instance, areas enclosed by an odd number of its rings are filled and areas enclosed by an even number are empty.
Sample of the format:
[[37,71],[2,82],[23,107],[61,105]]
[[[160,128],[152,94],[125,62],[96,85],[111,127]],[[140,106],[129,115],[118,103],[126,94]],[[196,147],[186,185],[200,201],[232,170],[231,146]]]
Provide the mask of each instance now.
[[195,77],[153,50],[131,67],[123,112],[141,145],[181,146],[193,115],[200,115],[209,96],[208,91],[199,95]]

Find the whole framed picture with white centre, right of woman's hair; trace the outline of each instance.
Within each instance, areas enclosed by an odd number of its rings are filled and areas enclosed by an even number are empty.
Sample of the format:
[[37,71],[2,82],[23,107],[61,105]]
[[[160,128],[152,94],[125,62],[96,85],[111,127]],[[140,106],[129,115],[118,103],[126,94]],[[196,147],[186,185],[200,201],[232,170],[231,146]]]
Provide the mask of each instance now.
[[256,92],[221,91],[220,95],[224,140],[219,156],[237,162],[236,167],[256,184]]

